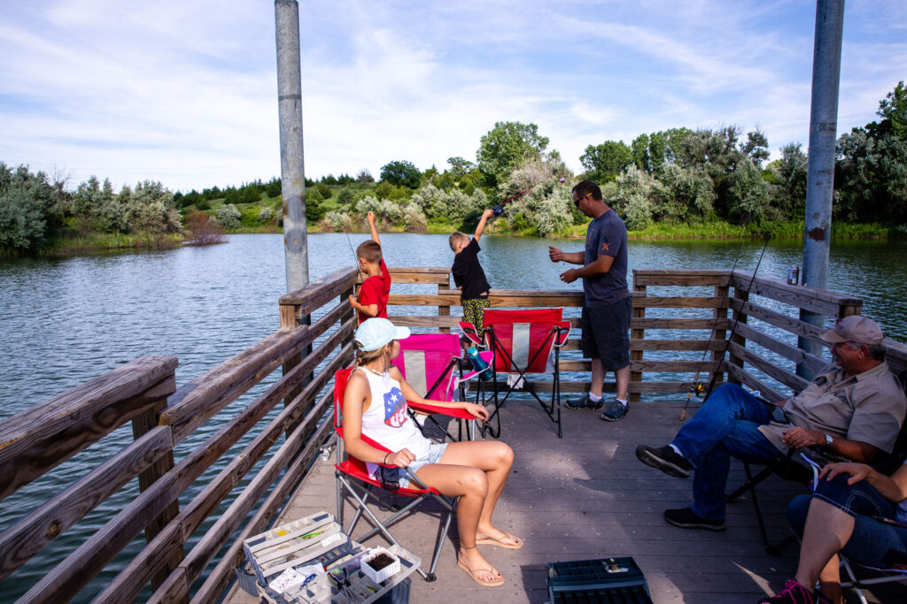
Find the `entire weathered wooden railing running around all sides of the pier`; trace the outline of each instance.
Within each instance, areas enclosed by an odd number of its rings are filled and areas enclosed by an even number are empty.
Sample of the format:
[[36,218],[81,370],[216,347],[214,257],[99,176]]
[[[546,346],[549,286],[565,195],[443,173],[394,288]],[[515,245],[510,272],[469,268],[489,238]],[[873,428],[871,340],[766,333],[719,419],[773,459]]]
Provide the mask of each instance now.
[[[425,287],[411,293],[392,288],[393,321],[424,331],[455,327],[459,312],[452,309],[459,306],[459,292],[450,289],[446,268],[391,273],[394,283]],[[131,601],[148,584],[154,602],[187,601],[190,594],[192,601],[218,599],[241,561],[242,540],[267,528],[331,434],[331,422],[325,421],[330,379],[352,359],[356,319],[346,300],[359,281],[348,268],[281,296],[278,331],[180,388],[175,357],[143,357],[0,423],[0,499],[127,422],[133,428],[132,443],[0,534],[0,580],[138,477],[139,494],[34,584],[23,601],[72,599],[142,532],[145,547],[96,601]],[[694,381],[712,375],[781,398],[781,388],[803,387],[797,366],[815,370],[824,364],[796,346],[797,338],[816,340],[819,331],[799,321],[799,310],[837,319],[860,312],[862,305],[851,296],[742,272],[638,270],[633,283],[630,393],[636,399],[687,394]],[[701,293],[688,295],[691,288]],[[494,307],[566,307],[574,326],[582,301],[576,291],[491,294]],[[650,337],[661,331],[668,337]],[[578,336],[579,331],[564,348],[579,350]],[[894,369],[907,369],[907,346],[891,340],[885,346]],[[690,355],[697,358],[684,358]],[[270,387],[238,412],[225,412],[278,367],[280,377]],[[561,370],[588,372],[590,361],[578,352],[566,354]],[[588,386],[588,381],[561,381],[565,391]],[[283,408],[270,413],[281,401]],[[210,436],[175,459],[175,446],[194,442],[190,436],[212,423],[215,429],[205,432]],[[239,453],[233,450],[238,444]],[[219,461],[222,467],[215,471]],[[187,492],[190,500],[180,509],[180,494]],[[215,518],[219,504],[228,500]],[[203,524],[203,534],[196,534]],[[215,559],[214,569],[205,573]]]

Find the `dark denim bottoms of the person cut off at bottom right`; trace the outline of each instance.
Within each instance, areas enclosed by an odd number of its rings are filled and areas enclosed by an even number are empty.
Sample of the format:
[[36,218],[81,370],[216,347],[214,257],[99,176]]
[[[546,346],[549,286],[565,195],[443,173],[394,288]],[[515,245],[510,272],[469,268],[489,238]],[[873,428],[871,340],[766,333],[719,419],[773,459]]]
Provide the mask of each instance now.
[[[849,475],[839,475],[832,481],[822,480],[814,494],[799,495],[787,505],[791,531],[803,539],[806,514],[814,498],[822,499],[854,517],[853,534],[844,545],[844,555],[850,560],[883,568],[890,552],[907,551],[907,528],[879,522],[871,516],[894,518],[894,504],[886,500],[864,481],[848,485]],[[869,514],[869,515],[867,515]]]

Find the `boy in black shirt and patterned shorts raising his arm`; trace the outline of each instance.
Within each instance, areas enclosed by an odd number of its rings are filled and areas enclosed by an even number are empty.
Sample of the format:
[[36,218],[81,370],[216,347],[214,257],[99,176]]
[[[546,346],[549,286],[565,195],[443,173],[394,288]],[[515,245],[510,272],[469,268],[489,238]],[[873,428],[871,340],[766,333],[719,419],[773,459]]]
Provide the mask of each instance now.
[[480,336],[483,332],[483,312],[491,305],[488,301],[488,291],[491,286],[485,278],[482,264],[479,264],[479,238],[488,218],[493,216],[494,210],[487,209],[475,227],[475,235],[470,240],[469,235],[460,231],[450,236],[451,249],[453,250],[453,283],[460,290],[460,304],[463,306],[463,321],[473,323],[475,332]]

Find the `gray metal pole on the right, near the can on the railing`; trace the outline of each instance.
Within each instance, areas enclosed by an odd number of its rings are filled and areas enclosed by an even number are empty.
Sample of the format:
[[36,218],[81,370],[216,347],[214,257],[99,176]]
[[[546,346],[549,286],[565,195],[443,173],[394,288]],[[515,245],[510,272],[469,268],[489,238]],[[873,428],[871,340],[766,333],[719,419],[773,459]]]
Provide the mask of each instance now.
[[[841,80],[841,35],[844,0],[817,0],[813,50],[813,100],[809,120],[809,167],[806,177],[806,216],[803,244],[803,284],[828,285],[828,250],[832,233],[834,144],[838,127],[838,83]],[[823,315],[801,311],[800,319],[816,326]],[[824,347],[800,338],[800,348],[821,354]],[[797,374],[808,372],[797,367]]]

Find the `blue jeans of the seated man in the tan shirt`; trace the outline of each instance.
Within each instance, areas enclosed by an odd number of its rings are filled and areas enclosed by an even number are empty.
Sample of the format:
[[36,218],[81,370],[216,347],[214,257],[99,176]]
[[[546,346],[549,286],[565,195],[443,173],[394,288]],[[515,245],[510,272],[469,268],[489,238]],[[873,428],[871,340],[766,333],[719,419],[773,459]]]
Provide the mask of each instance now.
[[724,520],[731,455],[756,464],[782,455],[758,430],[771,419],[766,405],[756,397],[735,384],[724,384],[680,428],[671,445],[696,467],[694,513],[707,520]]

